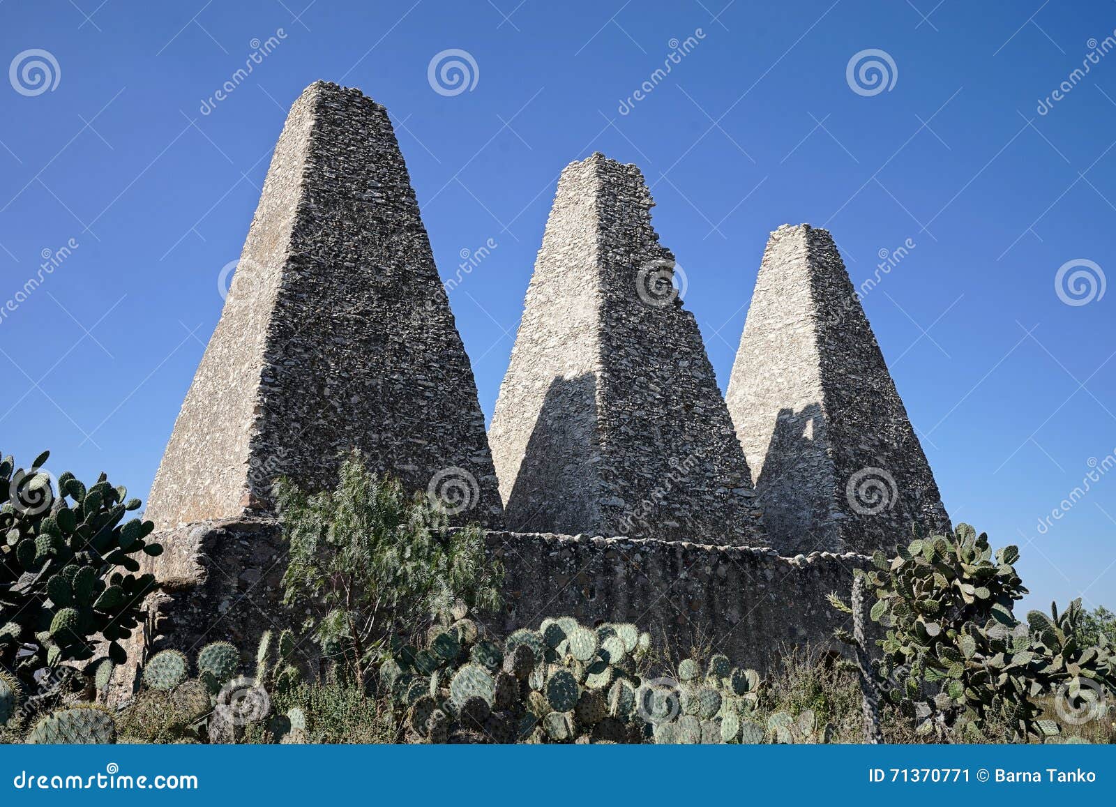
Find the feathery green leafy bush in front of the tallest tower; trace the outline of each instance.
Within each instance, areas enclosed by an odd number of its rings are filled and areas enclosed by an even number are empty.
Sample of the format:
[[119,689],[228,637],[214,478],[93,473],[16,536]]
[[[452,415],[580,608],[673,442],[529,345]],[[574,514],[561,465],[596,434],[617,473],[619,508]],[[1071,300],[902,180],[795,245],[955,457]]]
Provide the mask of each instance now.
[[310,494],[289,480],[275,487],[290,560],[283,602],[311,613],[326,655],[360,689],[387,637],[420,635],[455,601],[479,611],[500,602],[503,569],[488,559],[478,527],[450,529],[422,496],[369,471],[352,453],[334,490]]

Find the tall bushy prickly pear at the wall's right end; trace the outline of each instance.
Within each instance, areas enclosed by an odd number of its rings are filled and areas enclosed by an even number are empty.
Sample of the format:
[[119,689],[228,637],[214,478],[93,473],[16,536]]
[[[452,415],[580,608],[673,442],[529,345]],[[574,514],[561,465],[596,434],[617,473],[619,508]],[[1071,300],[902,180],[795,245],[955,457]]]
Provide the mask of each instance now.
[[865,573],[876,596],[870,616],[885,631],[876,678],[920,734],[975,740],[988,726],[1006,726],[1012,740],[1042,740],[1059,730],[1039,719],[1036,698],[1065,689],[1088,701],[1116,684],[1105,643],[1078,643],[1079,601],[1061,615],[1054,608],[1051,616],[1031,612],[1029,624],[1016,618],[1012,607],[1027,593],[1018,559],[1017,547],[993,554],[988,536],[964,523],[953,536],[899,547],[894,559],[873,557]]

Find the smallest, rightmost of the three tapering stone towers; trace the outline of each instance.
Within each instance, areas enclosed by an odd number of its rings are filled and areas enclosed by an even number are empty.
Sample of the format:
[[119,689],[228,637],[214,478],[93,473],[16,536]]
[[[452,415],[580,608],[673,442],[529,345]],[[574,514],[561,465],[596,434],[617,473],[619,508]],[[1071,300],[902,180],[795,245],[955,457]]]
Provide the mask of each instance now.
[[826,230],[771,233],[727,401],[781,553],[891,550],[915,525],[950,529]]

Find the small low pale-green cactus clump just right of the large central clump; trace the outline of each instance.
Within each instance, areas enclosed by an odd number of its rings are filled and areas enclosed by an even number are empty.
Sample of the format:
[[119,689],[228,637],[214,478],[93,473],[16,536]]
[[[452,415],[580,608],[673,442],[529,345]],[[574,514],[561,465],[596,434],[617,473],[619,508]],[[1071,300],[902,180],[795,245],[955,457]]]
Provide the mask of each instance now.
[[716,653],[704,665],[683,659],[676,680],[657,679],[636,693],[641,712],[657,743],[757,743],[763,729],[756,722],[760,676],[734,667]]

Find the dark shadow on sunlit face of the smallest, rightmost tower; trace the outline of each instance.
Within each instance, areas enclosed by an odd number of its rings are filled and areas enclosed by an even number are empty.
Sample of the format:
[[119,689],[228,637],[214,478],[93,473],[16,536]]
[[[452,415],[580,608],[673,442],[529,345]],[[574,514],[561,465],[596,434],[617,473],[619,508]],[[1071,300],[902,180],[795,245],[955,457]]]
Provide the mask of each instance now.
[[820,404],[779,410],[756,493],[771,545],[786,555],[843,549],[829,512],[834,480],[826,444]]

